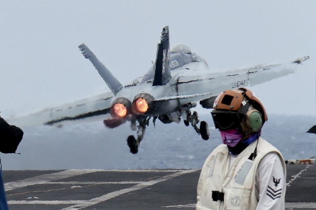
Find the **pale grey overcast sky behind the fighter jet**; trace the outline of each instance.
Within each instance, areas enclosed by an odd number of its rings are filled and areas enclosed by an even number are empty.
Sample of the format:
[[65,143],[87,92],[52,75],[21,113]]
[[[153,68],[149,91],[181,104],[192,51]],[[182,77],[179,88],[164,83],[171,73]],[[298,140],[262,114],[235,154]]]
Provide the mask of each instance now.
[[125,84],[155,59],[161,30],[211,70],[311,59],[251,88],[269,113],[316,115],[316,1],[1,0],[1,116],[110,91],[85,43]]

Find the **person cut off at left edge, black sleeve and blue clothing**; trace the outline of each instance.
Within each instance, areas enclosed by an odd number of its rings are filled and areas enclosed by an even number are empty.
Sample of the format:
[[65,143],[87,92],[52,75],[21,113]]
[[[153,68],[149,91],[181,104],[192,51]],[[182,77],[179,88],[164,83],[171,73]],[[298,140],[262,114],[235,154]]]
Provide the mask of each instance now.
[[[23,131],[14,126],[9,125],[0,117],[0,152],[15,153],[19,143],[23,138]],[[1,167],[2,170],[2,167]],[[0,171],[0,210],[9,210],[5,197],[2,173]]]

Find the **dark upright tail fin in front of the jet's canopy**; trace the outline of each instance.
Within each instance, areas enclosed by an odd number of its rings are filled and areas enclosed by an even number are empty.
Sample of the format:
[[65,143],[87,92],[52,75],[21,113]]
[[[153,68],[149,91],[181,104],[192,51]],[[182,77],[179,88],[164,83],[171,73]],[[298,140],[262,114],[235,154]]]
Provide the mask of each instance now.
[[162,29],[160,43],[157,46],[155,77],[153,86],[165,85],[171,78],[169,66],[169,27]]

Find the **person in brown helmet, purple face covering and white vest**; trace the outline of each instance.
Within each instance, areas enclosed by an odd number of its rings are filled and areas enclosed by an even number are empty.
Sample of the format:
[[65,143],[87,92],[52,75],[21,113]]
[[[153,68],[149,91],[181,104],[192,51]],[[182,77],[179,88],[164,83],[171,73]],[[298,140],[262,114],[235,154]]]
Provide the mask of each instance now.
[[211,112],[223,144],[206,159],[197,185],[197,210],[284,210],[285,162],[262,139],[264,106],[250,90],[226,90]]

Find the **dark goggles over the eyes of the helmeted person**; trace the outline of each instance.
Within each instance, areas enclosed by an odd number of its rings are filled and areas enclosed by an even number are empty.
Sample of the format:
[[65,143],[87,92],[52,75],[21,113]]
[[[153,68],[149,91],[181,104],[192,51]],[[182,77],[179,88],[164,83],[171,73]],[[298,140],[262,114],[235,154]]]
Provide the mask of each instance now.
[[219,128],[221,130],[228,130],[239,128],[242,129],[240,126],[240,122],[242,119],[246,118],[245,114],[233,111],[212,111],[211,112],[215,128]]

